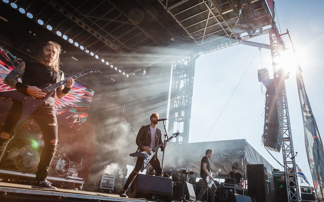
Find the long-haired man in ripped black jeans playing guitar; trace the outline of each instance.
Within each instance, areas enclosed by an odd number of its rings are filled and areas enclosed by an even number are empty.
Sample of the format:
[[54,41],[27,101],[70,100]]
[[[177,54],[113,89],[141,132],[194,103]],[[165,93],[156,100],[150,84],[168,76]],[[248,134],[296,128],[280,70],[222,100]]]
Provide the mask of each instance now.
[[[40,88],[50,86],[64,80],[64,73],[59,70],[61,46],[58,43],[48,41],[41,47],[38,58],[39,62],[20,62],[5,78],[4,83],[17,89],[18,93],[31,95],[35,99],[41,99],[46,96]],[[22,83],[17,79],[22,77]],[[69,93],[74,84],[74,79],[69,77],[67,83],[56,89],[56,95],[62,99]],[[46,180],[48,169],[56,151],[57,144],[57,120],[54,110],[54,94],[48,97],[41,105],[30,115],[40,127],[44,138],[44,148],[41,153],[40,162],[36,178],[31,187],[40,189],[54,189],[52,183]],[[22,112],[22,102],[14,101],[13,106],[6,118],[4,127],[0,133],[0,160],[3,156],[7,144],[14,135],[14,128],[19,121]]]

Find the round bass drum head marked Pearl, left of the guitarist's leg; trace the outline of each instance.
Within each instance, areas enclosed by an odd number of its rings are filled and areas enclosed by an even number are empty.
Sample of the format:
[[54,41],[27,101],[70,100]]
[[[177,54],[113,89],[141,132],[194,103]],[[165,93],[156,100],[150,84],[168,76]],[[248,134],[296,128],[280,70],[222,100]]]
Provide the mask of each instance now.
[[22,171],[29,171],[36,168],[39,162],[40,154],[31,149],[20,152],[15,158],[15,166]]

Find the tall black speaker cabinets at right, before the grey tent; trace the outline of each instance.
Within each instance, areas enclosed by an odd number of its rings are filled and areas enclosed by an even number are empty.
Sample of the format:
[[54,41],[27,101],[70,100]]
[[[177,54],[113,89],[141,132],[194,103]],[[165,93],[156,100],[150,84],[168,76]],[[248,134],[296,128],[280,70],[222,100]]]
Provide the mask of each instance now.
[[263,164],[248,164],[248,195],[254,197],[257,202],[270,202],[271,185],[265,180]]

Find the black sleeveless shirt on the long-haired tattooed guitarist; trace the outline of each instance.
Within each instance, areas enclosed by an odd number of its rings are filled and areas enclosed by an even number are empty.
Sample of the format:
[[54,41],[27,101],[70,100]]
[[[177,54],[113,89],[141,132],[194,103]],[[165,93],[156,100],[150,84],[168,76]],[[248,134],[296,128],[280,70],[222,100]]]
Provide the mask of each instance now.
[[[25,61],[25,73],[22,78],[22,83],[29,86],[36,86],[38,88],[44,88],[52,85],[53,83],[61,80],[62,71],[59,70],[56,79],[53,81],[53,68],[48,67],[39,62]],[[45,103],[54,106],[54,94],[46,99]]]

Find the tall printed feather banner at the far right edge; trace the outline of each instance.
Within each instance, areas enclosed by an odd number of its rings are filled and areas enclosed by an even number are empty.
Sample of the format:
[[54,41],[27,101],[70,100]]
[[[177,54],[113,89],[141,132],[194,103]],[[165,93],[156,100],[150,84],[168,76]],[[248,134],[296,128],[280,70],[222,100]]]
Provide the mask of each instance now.
[[297,88],[304,122],[305,147],[316,195],[323,200],[324,152],[317,124],[305,90],[300,67],[296,70]]

